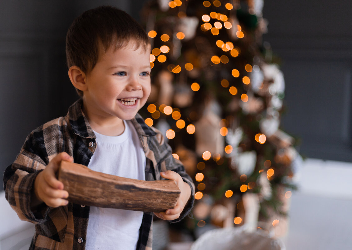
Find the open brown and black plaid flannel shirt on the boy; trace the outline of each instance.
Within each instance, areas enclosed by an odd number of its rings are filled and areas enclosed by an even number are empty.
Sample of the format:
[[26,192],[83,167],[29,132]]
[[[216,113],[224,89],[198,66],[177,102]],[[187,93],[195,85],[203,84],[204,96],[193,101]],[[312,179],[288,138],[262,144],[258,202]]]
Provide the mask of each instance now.
[[[88,166],[96,149],[95,135],[81,110],[82,100],[75,102],[65,117],[45,123],[34,130],[12,165],[4,174],[6,199],[21,220],[35,224],[36,232],[30,249],[85,249],[89,206],[69,203],[51,208],[44,203],[31,209],[34,180],[49,161],[60,152],[73,156],[74,162]],[[170,146],[161,133],[148,127],[137,114],[132,119],[146,156],[145,179],[160,180],[160,172],[172,170],[181,175],[191,187],[191,198],[178,222],[190,212],[194,203],[194,184],[180,161],[172,156]],[[153,214],[144,212],[139,230],[137,249],[152,249]],[[92,236],[93,237],[93,236]],[[118,240],[118,238],[117,238]]]

